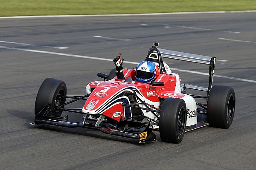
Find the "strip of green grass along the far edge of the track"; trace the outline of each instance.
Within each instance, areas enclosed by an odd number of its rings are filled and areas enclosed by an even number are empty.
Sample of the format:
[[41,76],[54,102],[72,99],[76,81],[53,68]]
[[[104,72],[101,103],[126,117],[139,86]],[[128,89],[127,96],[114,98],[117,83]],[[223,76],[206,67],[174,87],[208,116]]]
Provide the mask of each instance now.
[[0,16],[256,10],[256,0],[0,0]]

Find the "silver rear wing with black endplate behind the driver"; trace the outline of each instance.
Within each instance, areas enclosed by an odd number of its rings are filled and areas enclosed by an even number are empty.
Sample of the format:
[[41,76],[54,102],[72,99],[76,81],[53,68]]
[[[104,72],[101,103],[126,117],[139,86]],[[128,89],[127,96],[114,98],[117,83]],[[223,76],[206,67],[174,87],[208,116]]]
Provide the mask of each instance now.
[[[156,48],[155,48],[155,50],[156,50]],[[177,59],[177,60],[182,60],[182,61],[187,61],[187,62],[195,62],[195,63],[209,65],[209,85],[208,85],[208,89],[207,89],[207,94],[209,94],[209,91],[212,88],[212,81],[213,81],[216,57],[202,56],[202,55],[197,55],[197,54],[189,54],[189,53],[183,53],[183,52],[179,52],[179,51],[165,50],[165,49],[161,49],[161,48],[157,48],[157,50],[160,52],[160,55],[163,58]],[[206,90],[204,90],[206,88],[200,88],[198,86],[193,86],[193,85],[186,85],[186,88],[206,91]]]

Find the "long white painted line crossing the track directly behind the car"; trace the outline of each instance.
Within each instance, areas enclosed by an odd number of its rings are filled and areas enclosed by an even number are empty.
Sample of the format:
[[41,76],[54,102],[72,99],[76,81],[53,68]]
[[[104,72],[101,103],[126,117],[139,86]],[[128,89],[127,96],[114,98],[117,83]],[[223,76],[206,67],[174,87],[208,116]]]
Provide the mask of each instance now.
[[[34,52],[34,53],[53,54],[53,55],[68,56],[68,57],[97,59],[97,60],[105,60],[105,61],[113,62],[113,59],[106,59],[106,58],[100,58],[100,57],[90,57],[90,56],[82,56],[82,55],[56,53],[56,52],[50,52],[50,51],[30,50],[30,49],[24,49],[24,48],[9,48],[9,47],[5,47],[5,46],[0,46],[0,48],[10,49],[10,50],[19,50],[19,51],[28,51],[28,52]],[[131,62],[131,61],[125,61],[125,63],[135,64],[135,65],[139,64],[139,62]],[[208,73],[203,73],[203,72],[199,72],[199,71],[182,70],[182,69],[178,69],[178,68],[171,68],[171,70],[180,71],[180,72],[187,72],[187,73],[192,73],[192,74],[201,74],[201,75],[207,75],[208,76]],[[225,78],[225,79],[235,79],[235,80],[244,81],[244,82],[256,83],[256,81],[249,80],[249,79],[240,79],[240,78],[236,78],[236,77],[227,77],[227,76],[221,76],[221,75],[216,75],[216,74],[214,74],[214,76]]]

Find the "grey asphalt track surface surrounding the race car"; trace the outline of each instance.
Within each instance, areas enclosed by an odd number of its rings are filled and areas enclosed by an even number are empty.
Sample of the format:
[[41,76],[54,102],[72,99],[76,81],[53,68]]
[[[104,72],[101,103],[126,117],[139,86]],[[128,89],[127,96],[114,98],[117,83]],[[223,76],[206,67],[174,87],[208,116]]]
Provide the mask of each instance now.
[[[1,19],[0,169],[255,170],[255,28],[255,12]],[[100,80],[98,72],[114,68],[111,59],[119,52],[124,67],[134,68],[128,61],[145,59],[154,41],[160,48],[221,60],[213,84],[236,92],[229,129],[204,127],[186,133],[180,144],[161,142],[156,131],[156,142],[138,144],[97,130],[29,125],[45,78],[64,80],[68,94],[83,94],[87,83]],[[166,62],[183,69],[173,72],[184,83],[207,85],[207,76],[191,73],[207,73],[206,67]]]

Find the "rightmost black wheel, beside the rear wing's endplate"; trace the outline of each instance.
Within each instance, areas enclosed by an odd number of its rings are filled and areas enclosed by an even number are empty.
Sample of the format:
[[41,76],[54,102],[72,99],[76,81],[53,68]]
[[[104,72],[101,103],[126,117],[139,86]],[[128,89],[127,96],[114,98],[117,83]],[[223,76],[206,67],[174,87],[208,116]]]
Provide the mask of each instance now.
[[233,122],[236,96],[233,88],[214,85],[207,102],[207,122],[212,127],[227,129]]

